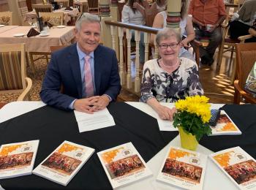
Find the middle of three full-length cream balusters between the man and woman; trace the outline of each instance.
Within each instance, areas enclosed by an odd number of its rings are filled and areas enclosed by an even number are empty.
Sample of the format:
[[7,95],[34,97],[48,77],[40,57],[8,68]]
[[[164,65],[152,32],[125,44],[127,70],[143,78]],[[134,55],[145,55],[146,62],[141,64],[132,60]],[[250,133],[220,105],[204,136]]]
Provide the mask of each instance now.
[[127,28],[127,88],[132,88],[131,76],[131,39],[132,31]]

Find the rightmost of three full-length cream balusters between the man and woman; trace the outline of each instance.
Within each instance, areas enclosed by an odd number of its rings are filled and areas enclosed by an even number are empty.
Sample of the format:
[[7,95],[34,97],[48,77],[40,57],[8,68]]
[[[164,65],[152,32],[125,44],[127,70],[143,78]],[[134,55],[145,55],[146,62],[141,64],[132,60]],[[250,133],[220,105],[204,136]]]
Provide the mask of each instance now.
[[140,31],[135,30],[135,42],[136,42],[136,59],[135,59],[135,92],[140,91]]

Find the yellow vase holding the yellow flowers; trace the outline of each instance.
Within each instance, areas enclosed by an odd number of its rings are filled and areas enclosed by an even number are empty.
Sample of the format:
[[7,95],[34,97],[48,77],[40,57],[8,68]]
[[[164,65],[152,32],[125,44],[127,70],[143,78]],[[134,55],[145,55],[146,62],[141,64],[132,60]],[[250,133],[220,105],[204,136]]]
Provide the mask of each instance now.
[[195,151],[198,145],[195,135],[185,133],[182,127],[178,127],[178,132],[181,138],[181,147],[190,151]]

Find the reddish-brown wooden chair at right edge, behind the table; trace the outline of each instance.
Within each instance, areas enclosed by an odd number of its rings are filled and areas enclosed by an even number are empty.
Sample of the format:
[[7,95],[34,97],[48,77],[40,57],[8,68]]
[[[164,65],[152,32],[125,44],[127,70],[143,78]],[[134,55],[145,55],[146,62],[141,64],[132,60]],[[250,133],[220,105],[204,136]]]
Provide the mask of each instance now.
[[256,42],[236,44],[236,76],[237,80],[234,82],[235,95],[234,103],[240,104],[241,98],[246,102],[256,104],[256,98],[252,94],[244,91],[244,85],[249,72],[256,61]]

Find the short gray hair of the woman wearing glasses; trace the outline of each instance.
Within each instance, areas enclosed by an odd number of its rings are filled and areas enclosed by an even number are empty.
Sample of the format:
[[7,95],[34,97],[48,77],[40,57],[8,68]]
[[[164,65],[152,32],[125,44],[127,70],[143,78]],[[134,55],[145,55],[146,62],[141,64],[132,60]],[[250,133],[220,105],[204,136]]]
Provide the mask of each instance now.
[[160,41],[162,39],[167,39],[170,37],[175,37],[177,39],[177,42],[181,42],[181,34],[176,31],[174,28],[163,28],[162,30],[157,32],[156,42],[157,45],[160,44]]

